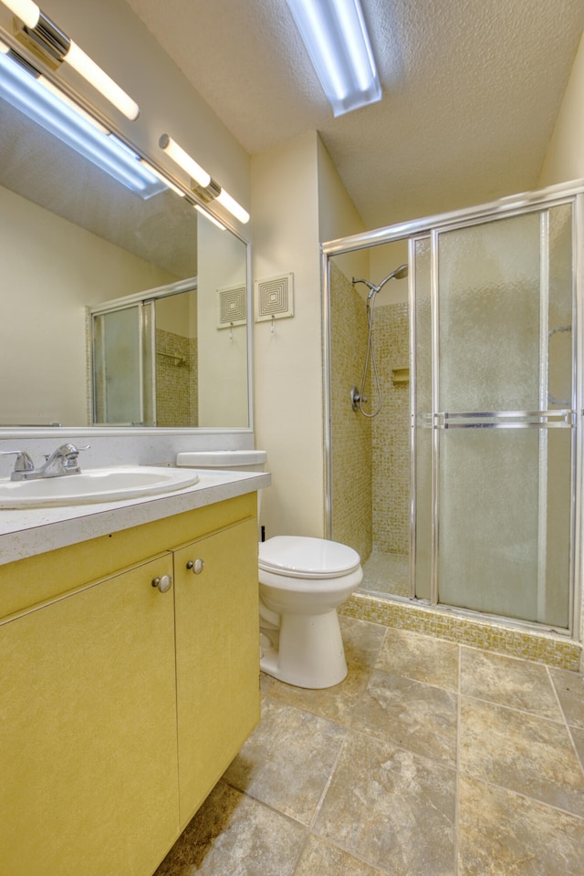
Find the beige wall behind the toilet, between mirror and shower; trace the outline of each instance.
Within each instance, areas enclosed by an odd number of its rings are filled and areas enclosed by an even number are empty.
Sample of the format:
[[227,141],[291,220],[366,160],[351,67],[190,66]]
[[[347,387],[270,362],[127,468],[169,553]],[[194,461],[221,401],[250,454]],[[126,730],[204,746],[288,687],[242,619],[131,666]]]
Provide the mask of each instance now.
[[[255,441],[272,486],[262,500],[266,536],[320,537],[324,422],[319,243],[363,230],[318,134],[252,159],[255,280],[294,274],[295,316],[255,325]],[[354,262],[360,264],[362,256]]]

